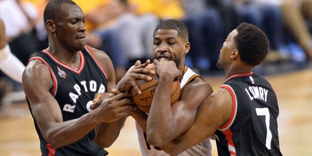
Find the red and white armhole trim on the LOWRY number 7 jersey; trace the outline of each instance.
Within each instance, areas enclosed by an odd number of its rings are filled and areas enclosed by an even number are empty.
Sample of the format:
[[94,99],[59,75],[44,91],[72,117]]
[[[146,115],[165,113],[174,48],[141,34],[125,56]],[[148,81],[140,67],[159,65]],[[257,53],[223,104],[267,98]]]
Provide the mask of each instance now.
[[232,96],[232,103],[233,103],[233,106],[232,106],[232,114],[231,114],[231,117],[229,119],[229,121],[227,122],[227,124],[219,127],[219,130],[220,131],[225,131],[226,129],[229,129],[229,127],[232,125],[232,123],[234,122],[234,119],[236,117],[236,112],[237,112],[237,99],[236,99],[236,95],[235,95],[235,92],[233,90],[233,88],[230,86],[230,85],[227,85],[227,84],[223,84],[220,86],[221,88],[226,88],[230,91],[231,93],[231,96]]

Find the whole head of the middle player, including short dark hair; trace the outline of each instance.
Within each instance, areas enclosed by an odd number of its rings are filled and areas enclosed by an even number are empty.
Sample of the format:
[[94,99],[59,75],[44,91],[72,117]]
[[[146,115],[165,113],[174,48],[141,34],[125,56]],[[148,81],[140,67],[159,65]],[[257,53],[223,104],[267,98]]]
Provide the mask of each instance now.
[[155,59],[165,58],[174,61],[177,66],[184,66],[185,54],[189,49],[188,29],[184,23],[168,19],[157,25],[153,43]]

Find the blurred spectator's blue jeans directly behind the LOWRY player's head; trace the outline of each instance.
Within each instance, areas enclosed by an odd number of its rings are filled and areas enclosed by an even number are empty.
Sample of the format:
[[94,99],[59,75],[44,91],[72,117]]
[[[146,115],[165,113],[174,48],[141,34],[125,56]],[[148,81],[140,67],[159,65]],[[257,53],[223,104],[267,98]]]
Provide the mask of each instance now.
[[283,16],[280,7],[262,0],[234,0],[242,22],[259,27],[268,37],[270,51],[267,62],[287,60],[281,54],[285,48]]

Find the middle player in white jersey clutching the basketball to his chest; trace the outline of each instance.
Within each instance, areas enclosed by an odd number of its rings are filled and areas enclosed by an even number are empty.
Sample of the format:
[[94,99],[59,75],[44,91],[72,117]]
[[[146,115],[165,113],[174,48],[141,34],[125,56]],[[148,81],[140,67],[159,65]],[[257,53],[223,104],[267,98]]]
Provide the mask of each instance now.
[[[139,109],[132,114],[136,120],[143,156],[167,156],[161,150],[161,146],[176,139],[190,128],[197,108],[213,92],[212,87],[203,78],[185,66],[184,59],[189,49],[188,29],[184,23],[178,20],[165,20],[156,27],[153,53],[159,76],[158,85],[149,114]],[[129,71],[121,82],[127,81]],[[175,78],[180,79],[182,90],[180,99],[171,106],[170,93]],[[126,87],[117,88],[121,92],[127,90]],[[148,144],[147,139],[155,146]],[[210,156],[210,139],[190,147],[181,155]]]

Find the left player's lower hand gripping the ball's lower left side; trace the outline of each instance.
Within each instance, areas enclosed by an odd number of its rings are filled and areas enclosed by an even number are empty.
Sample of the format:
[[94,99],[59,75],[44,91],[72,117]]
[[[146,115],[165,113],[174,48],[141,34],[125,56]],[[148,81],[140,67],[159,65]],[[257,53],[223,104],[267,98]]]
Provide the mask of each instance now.
[[136,110],[129,93],[120,93],[116,96],[105,98],[99,107],[95,109],[99,113],[98,117],[102,122],[114,122],[120,118],[125,118],[133,114]]

